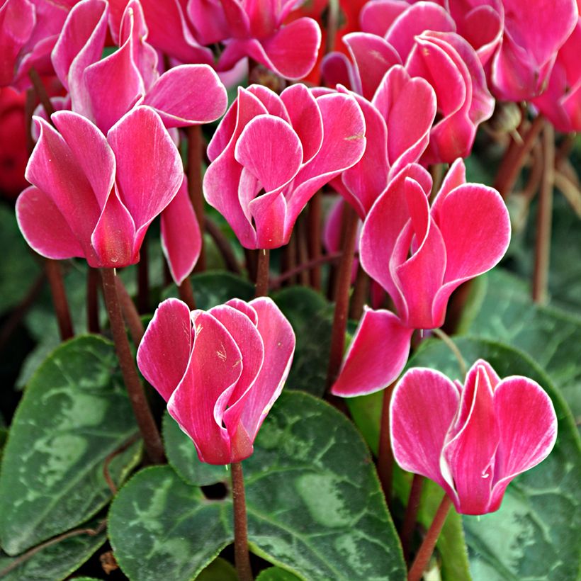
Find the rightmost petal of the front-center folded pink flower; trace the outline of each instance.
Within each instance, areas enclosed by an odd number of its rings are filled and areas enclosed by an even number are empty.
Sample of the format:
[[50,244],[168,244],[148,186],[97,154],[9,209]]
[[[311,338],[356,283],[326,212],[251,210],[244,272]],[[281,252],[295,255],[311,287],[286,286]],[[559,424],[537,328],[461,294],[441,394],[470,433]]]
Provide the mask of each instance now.
[[258,315],[256,328],[264,344],[264,361],[258,376],[247,393],[244,394],[242,424],[254,441],[264,418],[269,413],[284,382],[288,377],[295,352],[295,333],[281,310],[271,298],[260,297],[249,305]]

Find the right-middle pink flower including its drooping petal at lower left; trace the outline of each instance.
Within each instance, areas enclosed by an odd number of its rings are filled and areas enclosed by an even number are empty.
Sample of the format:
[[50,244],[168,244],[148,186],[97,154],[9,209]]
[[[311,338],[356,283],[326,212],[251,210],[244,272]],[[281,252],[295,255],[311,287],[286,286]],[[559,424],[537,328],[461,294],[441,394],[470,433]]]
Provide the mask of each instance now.
[[347,351],[334,395],[381,390],[399,375],[414,329],[444,323],[453,290],[495,266],[510,240],[509,215],[500,194],[466,184],[461,159],[450,168],[434,203],[431,177],[411,164],[390,183],[363,223],[359,259],[395,303],[366,309]]

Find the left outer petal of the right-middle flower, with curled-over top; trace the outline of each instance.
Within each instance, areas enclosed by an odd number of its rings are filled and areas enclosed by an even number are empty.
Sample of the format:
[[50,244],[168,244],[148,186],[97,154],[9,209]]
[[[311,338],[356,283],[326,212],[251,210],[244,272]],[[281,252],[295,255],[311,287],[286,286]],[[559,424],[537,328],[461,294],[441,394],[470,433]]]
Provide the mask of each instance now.
[[391,278],[388,265],[397,238],[409,218],[405,202],[405,179],[413,178],[424,191],[431,189],[431,176],[418,164],[410,164],[390,181],[369,211],[363,230],[359,257],[363,270],[380,283],[395,300],[399,291]]

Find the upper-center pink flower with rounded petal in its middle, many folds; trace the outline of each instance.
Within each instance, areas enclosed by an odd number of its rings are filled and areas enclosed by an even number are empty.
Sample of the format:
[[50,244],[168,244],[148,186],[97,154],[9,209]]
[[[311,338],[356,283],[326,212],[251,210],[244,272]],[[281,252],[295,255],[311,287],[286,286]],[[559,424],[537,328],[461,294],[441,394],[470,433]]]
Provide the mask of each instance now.
[[278,248],[315,192],[361,159],[365,130],[352,96],[241,87],[208,145],[205,199],[244,247]]

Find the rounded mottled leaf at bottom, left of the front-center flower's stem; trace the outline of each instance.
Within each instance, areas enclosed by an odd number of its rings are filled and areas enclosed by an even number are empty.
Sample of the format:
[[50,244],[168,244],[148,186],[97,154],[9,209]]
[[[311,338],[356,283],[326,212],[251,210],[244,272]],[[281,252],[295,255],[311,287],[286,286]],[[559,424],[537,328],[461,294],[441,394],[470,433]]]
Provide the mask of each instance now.
[[132,581],[193,580],[232,541],[231,515],[171,466],[137,473],[108,517],[115,558]]

